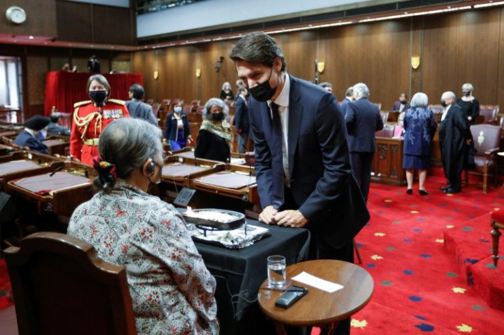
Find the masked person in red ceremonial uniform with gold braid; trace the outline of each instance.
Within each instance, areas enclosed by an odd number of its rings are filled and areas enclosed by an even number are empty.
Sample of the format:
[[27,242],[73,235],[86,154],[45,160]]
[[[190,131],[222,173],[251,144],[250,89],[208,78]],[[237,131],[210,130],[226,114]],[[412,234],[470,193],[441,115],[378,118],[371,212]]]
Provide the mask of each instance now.
[[92,165],[92,158],[99,155],[101,131],[118,118],[129,118],[129,112],[123,100],[109,99],[110,85],[102,75],[88,79],[87,91],[91,100],[73,105],[70,155]]

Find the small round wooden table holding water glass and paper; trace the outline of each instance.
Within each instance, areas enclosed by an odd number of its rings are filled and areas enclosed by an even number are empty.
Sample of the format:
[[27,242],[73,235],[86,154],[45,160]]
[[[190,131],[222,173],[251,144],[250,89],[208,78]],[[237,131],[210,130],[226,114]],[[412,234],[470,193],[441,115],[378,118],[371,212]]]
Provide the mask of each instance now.
[[[275,306],[275,301],[282,292],[260,289],[259,305],[264,314],[282,324],[326,329],[329,326],[329,329],[332,329],[331,325],[364,308],[373,295],[373,278],[368,271],[352,263],[342,260],[310,260],[288,266],[286,278],[290,280],[303,271],[344,287],[327,293],[292,280],[292,285],[306,287],[309,291],[287,309]],[[266,286],[267,281],[266,279],[262,286]],[[277,332],[282,334],[279,327]]]

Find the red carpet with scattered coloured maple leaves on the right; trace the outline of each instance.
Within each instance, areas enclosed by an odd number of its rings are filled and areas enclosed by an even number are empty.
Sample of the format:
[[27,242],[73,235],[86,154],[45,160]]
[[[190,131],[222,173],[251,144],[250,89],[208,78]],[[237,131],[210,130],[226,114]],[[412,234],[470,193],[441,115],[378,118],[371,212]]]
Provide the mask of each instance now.
[[[504,209],[504,196],[498,196],[499,188],[483,195],[472,185],[447,196],[439,189],[446,183],[442,171],[434,173],[427,177],[429,196],[418,194],[418,184],[412,196],[406,187],[371,185],[371,220],[356,241],[375,293],[353,315],[352,334],[504,334],[504,312],[487,304],[463,274],[463,260],[461,267],[454,257],[457,252],[479,259],[491,254],[488,214]],[[459,243],[451,241],[445,247],[445,230],[472,231],[467,250],[457,251]],[[483,263],[475,264],[472,276],[495,276]]]

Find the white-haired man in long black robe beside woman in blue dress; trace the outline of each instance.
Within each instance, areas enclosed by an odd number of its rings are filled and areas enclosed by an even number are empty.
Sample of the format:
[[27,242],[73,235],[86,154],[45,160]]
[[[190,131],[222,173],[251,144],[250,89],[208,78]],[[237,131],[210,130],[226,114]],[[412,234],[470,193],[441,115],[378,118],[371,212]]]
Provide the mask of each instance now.
[[464,166],[464,155],[471,142],[469,124],[464,112],[457,104],[455,93],[444,92],[441,96],[444,107],[439,126],[439,145],[444,176],[448,179],[444,193],[457,193],[461,190],[460,174]]

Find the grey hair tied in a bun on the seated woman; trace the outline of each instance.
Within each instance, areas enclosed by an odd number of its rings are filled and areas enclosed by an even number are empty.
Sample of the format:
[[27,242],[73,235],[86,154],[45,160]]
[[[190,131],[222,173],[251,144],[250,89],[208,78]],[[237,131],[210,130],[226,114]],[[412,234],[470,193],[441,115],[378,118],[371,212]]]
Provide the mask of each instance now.
[[[163,151],[161,139],[161,129],[157,126],[142,119],[119,118],[101,132],[98,151],[103,161],[115,166],[116,176],[124,179],[134,169],[141,168],[147,159]],[[108,174],[108,171],[104,173]],[[115,184],[115,178],[101,177],[95,178],[93,185],[109,192]]]

